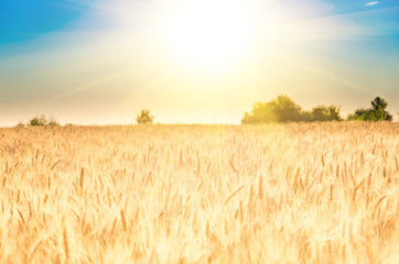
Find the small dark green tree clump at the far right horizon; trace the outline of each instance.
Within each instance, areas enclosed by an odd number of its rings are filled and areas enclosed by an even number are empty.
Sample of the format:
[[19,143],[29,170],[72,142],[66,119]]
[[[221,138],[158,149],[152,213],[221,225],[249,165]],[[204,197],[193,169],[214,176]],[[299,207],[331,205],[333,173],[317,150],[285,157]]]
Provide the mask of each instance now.
[[354,113],[347,117],[348,120],[363,120],[363,121],[392,121],[392,116],[386,110],[388,102],[376,97],[371,101],[371,108],[357,109]]

